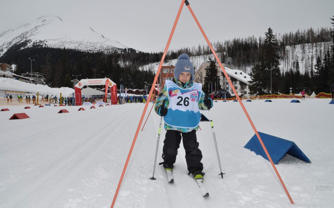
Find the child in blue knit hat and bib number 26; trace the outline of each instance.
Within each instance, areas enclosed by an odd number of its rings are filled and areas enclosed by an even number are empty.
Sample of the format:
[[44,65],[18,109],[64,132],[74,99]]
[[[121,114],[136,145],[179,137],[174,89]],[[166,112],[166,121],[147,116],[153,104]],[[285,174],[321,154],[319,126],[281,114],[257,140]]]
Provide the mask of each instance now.
[[[185,149],[188,175],[203,178],[202,152],[198,148],[196,131],[200,121],[199,109],[207,110],[213,102],[202,91],[202,84],[194,82],[194,67],[187,54],[178,57],[173,81],[166,80],[155,102],[155,111],[164,117],[166,136],[162,158],[163,167],[173,170],[181,135]],[[163,105],[164,103],[164,105]]]

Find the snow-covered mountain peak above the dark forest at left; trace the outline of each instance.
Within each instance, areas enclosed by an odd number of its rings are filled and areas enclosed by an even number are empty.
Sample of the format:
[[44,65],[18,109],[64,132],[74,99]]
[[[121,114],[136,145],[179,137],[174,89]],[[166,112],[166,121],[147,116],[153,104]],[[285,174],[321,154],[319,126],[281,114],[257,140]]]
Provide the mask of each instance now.
[[19,28],[0,34],[0,56],[10,47],[28,41],[25,47],[40,44],[50,48],[110,53],[127,48],[118,41],[104,37],[90,27],[67,23],[57,16],[42,16]]

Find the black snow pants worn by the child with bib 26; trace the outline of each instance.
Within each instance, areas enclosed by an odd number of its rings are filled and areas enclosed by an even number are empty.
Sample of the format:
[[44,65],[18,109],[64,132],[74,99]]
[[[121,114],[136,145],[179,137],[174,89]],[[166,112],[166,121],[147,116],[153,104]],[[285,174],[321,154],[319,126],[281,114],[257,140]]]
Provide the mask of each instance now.
[[162,158],[167,163],[175,163],[177,149],[180,147],[181,143],[181,134],[189,173],[194,170],[202,171],[203,164],[201,163],[201,159],[203,156],[201,150],[198,149],[199,143],[196,138],[196,130],[186,133],[177,130],[167,130],[162,149]]

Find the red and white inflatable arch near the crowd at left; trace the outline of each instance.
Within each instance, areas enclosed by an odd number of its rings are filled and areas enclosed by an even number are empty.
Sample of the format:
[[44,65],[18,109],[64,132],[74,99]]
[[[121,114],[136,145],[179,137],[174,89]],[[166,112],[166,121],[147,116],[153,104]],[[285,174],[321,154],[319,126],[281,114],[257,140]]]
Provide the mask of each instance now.
[[75,94],[75,105],[81,105],[81,88],[83,86],[90,86],[90,85],[106,85],[106,96],[105,96],[105,103],[107,100],[107,93],[108,88],[110,88],[111,92],[111,104],[117,104],[117,85],[108,78],[104,79],[83,79],[80,80],[75,86],[74,86],[74,94]]

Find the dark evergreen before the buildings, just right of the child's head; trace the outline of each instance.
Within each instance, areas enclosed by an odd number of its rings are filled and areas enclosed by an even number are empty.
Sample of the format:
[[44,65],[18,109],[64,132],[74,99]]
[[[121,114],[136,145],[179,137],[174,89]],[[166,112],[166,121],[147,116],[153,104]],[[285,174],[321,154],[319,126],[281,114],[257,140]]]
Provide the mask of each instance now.
[[[219,82],[219,77],[217,76],[217,66],[214,60],[209,58],[209,68],[205,69],[204,85],[202,87],[205,94],[210,94],[214,91],[215,83],[217,83],[217,78]],[[212,87],[211,87],[212,86]],[[212,90],[211,90],[212,88]],[[219,86],[220,89],[220,86]]]

